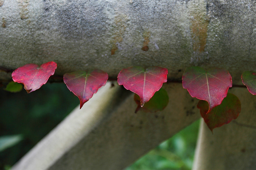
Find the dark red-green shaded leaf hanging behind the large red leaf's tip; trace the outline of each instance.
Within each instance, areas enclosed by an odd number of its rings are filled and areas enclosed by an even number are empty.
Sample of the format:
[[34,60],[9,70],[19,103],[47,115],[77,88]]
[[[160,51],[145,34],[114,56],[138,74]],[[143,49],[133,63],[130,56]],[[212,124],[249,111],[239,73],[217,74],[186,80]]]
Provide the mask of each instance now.
[[206,101],[200,100],[197,107],[200,109],[201,116],[211,131],[236,119],[241,112],[241,103],[238,97],[230,93],[220,105],[213,108],[208,114],[208,103]]

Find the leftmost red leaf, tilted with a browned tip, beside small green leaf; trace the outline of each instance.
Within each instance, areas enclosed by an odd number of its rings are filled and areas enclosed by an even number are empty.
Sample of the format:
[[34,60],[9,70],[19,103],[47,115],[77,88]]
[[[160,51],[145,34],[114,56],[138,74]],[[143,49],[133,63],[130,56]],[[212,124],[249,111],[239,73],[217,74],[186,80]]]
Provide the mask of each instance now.
[[57,64],[53,61],[44,63],[40,67],[37,64],[26,64],[12,72],[12,80],[22,83],[24,89],[30,93],[46,84],[49,77],[54,74]]

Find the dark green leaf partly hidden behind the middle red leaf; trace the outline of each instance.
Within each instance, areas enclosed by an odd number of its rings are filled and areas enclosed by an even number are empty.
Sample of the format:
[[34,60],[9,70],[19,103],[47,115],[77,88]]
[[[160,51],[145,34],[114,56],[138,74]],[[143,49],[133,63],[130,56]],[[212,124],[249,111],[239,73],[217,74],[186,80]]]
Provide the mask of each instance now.
[[155,92],[154,96],[150,98],[150,100],[146,102],[143,107],[140,107],[140,97],[137,94],[134,94],[134,100],[138,104],[135,113],[137,113],[139,110],[153,113],[164,110],[169,102],[169,97],[166,90],[161,88],[159,91]]

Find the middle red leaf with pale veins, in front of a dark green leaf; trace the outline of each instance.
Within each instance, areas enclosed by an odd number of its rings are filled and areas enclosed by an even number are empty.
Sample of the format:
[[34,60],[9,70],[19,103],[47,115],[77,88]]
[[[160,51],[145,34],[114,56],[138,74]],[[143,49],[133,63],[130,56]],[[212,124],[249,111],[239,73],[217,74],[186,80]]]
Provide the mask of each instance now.
[[117,82],[140,97],[140,106],[148,102],[167,81],[168,70],[161,67],[129,67],[118,74]]

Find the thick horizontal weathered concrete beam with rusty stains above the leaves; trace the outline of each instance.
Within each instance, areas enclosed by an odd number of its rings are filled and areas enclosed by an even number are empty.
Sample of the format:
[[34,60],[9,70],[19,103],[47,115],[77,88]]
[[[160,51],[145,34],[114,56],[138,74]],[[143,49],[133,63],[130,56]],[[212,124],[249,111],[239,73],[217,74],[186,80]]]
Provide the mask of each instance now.
[[[254,70],[256,1],[0,0],[0,67],[55,61],[56,74],[157,65],[169,79],[220,67]],[[0,72],[0,79],[11,79]]]

